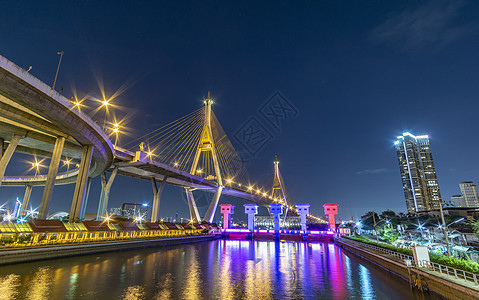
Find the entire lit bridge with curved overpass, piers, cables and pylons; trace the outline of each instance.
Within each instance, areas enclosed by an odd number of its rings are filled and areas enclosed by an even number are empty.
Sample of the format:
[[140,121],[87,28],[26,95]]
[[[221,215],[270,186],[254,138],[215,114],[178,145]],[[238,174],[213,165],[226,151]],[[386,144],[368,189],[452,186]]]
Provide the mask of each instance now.
[[[21,215],[26,213],[32,187],[44,186],[39,219],[48,214],[54,186],[70,183],[75,183],[75,190],[69,220],[84,219],[91,178],[98,175],[102,190],[97,217],[106,218],[110,189],[118,174],[152,182],[152,222],[158,220],[165,184],[185,188],[195,222],[213,220],[221,195],[262,206],[279,203],[294,213],[277,162],[272,191],[253,185],[212,111],[209,95],[204,103],[193,113],[119,147],[113,145],[105,128],[81,111],[78,102],[69,101],[0,56],[0,184],[26,186]],[[49,158],[48,174],[5,176],[14,152]],[[59,172],[60,162],[67,158],[77,167]],[[203,218],[196,207],[195,190],[214,194]],[[321,221],[312,215],[308,218]]]

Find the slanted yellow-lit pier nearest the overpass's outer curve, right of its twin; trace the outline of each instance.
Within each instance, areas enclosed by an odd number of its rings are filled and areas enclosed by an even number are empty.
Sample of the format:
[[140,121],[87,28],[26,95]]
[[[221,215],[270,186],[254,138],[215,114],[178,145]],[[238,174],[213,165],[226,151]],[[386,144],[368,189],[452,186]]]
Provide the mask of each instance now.
[[80,167],[78,169],[77,182],[75,184],[75,192],[73,193],[72,206],[70,209],[69,222],[81,220],[81,212],[84,210],[83,206],[86,206],[85,194],[88,186],[88,175],[90,173],[92,154],[92,145],[83,147]]

